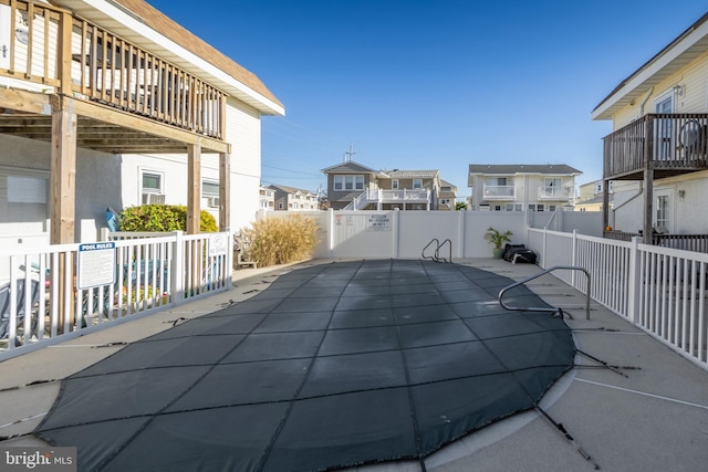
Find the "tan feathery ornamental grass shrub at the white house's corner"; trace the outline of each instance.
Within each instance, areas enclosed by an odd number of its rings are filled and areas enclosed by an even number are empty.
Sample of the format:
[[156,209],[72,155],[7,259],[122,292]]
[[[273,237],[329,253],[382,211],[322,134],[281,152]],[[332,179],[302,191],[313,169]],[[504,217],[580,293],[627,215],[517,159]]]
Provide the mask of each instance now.
[[317,244],[317,223],[303,214],[263,218],[242,230],[247,258],[259,266],[287,264],[312,256]]

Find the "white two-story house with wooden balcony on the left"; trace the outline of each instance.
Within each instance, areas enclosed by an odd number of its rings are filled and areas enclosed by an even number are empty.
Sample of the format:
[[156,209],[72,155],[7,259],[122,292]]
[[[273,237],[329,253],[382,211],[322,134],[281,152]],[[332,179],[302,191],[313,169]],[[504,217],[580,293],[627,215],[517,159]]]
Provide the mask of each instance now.
[[188,232],[252,221],[284,108],[230,57],[142,0],[0,0],[0,50],[3,244],[94,241],[142,203],[186,204]]

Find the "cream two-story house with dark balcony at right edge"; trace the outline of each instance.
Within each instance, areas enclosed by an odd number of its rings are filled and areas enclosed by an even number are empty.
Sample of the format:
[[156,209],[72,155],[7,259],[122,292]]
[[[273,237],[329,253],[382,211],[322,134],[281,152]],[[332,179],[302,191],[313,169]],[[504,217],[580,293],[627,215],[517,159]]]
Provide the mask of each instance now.
[[603,180],[614,183],[612,211],[603,206],[605,227],[708,233],[707,84],[705,14],[593,109],[593,119],[613,124],[604,137]]

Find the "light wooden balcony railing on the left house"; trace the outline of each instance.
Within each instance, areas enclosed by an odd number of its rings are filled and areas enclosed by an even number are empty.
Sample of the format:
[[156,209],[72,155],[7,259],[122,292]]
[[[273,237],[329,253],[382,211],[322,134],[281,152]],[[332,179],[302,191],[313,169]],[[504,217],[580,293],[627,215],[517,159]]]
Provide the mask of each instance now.
[[66,10],[22,0],[0,0],[0,9],[12,27],[0,75],[14,85],[30,82],[223,139],[225,92]]

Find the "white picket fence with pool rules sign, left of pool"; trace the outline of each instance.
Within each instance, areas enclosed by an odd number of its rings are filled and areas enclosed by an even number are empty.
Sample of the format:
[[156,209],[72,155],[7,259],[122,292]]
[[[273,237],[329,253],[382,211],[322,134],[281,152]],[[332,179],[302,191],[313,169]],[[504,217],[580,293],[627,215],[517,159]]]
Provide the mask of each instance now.
[[231,286],[229,233],[112,237],[0,250],[0,360]]

